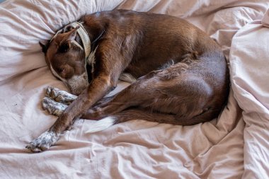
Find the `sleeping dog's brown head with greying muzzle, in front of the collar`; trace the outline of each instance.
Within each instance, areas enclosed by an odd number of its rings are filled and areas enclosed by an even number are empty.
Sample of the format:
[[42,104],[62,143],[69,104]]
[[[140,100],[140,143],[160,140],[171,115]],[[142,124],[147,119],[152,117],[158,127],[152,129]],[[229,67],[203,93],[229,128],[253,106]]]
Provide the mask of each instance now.
[[75,95],[88,86],[84,49],[75,41],[78,28],[60,30],[46,45],[40,42],[50,71]]

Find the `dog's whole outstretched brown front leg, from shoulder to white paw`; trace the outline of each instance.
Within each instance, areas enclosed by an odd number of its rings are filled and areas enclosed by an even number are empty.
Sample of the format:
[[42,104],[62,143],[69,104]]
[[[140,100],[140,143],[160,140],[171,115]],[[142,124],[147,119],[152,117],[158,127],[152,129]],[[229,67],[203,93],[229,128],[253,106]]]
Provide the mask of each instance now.
[[[73,120],[86,114],[98,100],[103,98],[113,87],[117,85],[120,74],[130,64],[132,54],[135,50],[137,37],[135,35],[128,37],[105,37],[105,40],[99,42],[93,71],[93,80],[88,87],[74,100],[62,115],[56,120],[55,124],[43,133],[37,139],[30,142],[27,149],[33,152],[44,151],[59,139],[59,135],[64,132],[73,122]],[[123,46],[122,46],[123,44]],[[124,54],[122,54],[124,52]]]

